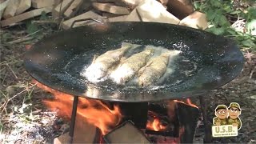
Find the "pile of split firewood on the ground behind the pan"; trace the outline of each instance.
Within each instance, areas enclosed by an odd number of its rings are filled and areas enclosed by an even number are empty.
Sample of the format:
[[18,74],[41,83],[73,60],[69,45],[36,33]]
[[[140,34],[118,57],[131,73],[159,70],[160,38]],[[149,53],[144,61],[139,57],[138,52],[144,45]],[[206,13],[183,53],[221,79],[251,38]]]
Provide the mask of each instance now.
[[[101,22],[162,22],[206,29],[206,14],[190,0],[0,0],[1,27],[13,26],[42,12],[64,30],[78,19]],[[94,22],[76,22],[74,27]]]

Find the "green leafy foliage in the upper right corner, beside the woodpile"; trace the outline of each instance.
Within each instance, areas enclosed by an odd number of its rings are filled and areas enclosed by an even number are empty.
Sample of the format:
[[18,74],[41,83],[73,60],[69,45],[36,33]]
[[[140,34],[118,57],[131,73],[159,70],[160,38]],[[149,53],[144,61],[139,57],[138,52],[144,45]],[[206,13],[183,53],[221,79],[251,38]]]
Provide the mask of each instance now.
[[[206,14],[209,27],[206,31],[234,38],[242,47],[256,50],[256,8],[234,8],[234,0],[205,0],[194,2],[194,8]],[[240,19],[238,19],[240,18]],[[244,19],[246,30],[235,30],[232,21]],[[232,21],[231,21],[232,19]]]

